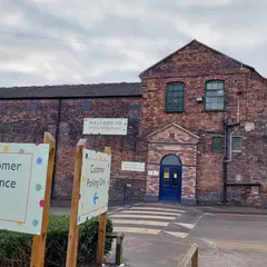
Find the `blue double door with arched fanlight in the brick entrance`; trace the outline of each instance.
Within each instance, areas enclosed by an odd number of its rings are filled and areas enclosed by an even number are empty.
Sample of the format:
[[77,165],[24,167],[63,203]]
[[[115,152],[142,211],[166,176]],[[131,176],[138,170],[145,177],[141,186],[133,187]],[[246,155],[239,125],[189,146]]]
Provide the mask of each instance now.
[[160,162],[159,199],[167,201],[181,201],[182,164],[178,156],[170,154]]

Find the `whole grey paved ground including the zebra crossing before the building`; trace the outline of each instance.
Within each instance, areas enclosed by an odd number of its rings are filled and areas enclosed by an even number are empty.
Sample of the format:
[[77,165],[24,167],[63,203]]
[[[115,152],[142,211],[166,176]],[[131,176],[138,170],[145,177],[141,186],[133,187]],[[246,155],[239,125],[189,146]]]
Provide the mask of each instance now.
[[[51,207],[53,214],[69,208]],[[191,244],[199,266],[267,266],[267,212],[255,208],[139,202],[112,206],[108,217],[123,231],[123,263],[129,267],[178,266]],[[113,249],[107,260],[115,258]]]

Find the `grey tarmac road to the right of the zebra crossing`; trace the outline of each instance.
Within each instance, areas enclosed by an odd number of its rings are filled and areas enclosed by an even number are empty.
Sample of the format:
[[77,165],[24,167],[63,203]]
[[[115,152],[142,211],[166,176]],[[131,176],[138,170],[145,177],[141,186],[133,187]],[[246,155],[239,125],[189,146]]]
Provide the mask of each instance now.
[[200,266],[267,266],[267,216],[204,214],[187,241],[199,246]]

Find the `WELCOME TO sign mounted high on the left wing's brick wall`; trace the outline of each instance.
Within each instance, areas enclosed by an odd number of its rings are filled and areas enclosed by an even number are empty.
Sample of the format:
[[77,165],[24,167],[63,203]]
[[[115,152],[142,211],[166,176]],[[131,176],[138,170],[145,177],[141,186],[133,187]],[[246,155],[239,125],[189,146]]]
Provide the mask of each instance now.
[[83,120],[83,135],[126,136],[128,119],[87,118]]

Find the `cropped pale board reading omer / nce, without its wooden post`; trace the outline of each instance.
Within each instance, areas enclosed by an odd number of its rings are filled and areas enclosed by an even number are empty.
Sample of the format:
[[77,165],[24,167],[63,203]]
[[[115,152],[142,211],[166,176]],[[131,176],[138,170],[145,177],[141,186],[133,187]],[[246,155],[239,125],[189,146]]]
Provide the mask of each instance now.
[[0,229],[40,235],[49,145],[0,144]]

